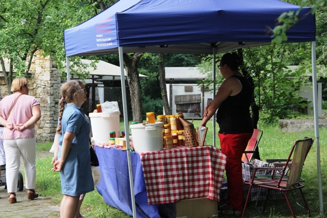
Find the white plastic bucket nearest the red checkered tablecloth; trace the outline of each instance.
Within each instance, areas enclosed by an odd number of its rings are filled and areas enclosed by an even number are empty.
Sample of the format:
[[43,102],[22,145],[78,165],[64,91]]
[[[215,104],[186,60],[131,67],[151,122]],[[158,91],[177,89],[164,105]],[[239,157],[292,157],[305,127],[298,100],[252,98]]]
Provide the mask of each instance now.
[[130,125],[135,152],[162,151],[162,127],[163,122]]

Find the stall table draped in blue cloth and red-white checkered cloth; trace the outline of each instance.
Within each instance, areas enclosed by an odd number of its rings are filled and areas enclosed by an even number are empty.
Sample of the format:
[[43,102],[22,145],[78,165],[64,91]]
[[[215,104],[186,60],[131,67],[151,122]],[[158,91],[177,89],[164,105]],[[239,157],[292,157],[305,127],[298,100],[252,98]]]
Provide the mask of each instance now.
[[[104,201],[130,215],[127,153],[116,146],[96,144]],[[133,153],[131,165],[138,217],[160,217],[159,208],[182,199],[207,197],[219,201],[226,157],[212,147]]]

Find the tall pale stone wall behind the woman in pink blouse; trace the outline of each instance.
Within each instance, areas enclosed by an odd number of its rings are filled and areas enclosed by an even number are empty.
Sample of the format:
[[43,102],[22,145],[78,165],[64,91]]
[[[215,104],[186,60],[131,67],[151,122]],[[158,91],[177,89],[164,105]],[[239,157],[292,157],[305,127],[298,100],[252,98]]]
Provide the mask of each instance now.
[[[60,97],[60,74],[50,56],[42,57],[36,53],[30,68],[29,95],[40,103],[41,119],[36,123],[37,142],[53,141],[58,120]],[[7,85],[2,84],[1,95],[8,95]]]

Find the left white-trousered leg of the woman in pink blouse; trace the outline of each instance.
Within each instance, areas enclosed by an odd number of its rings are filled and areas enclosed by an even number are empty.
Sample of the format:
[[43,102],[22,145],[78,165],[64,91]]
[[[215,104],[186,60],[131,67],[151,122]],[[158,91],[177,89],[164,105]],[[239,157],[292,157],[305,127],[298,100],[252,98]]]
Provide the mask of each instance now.
[[6,181],[8,193],[17,192],[18,172],[21,164],[21,156],[16,143],[17,139],[5,139],[4,148],[6,153]]

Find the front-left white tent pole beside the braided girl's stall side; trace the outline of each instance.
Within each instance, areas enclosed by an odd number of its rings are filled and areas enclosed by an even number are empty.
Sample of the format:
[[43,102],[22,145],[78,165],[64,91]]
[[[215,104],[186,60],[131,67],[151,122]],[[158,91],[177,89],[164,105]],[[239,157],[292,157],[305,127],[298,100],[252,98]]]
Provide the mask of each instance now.
[[119,65],[121,71],[121,87],[123,95],[123,108],[124,108],[124,127],[126,134],[126,149],[127,149],[127,161],[128,161],[128,175],[129,175],[129,185],[131,188],[131,198],[132,198],[132,209],[133,217],[136,218],[136,207],[135,207],[135,196],[134,196],[134,185],[133,185],[133,173],[132,173],[132,163],[131,154],[129,146],[129,127],[128,127],[128,116],[127,116],[127,101],[126,101],[126,89],[125,89],[125,72],[124,72],[124,58],[123,58],[123,47],[119,47]]

